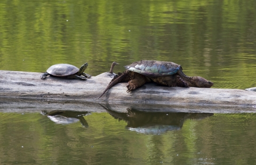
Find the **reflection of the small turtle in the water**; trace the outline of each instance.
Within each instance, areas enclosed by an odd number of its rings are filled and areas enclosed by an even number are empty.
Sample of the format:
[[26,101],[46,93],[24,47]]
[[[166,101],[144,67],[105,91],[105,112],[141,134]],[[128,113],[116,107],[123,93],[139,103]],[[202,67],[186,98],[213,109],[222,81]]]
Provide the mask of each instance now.
[[89,127],[87,121],[83,116],[91,115],[87,111],[64,111],[64,110],[53,110],[50,112],[42,111],[41,114],[47,115],[52,121],[57,124],[71,124],[80,121],[83,127]]

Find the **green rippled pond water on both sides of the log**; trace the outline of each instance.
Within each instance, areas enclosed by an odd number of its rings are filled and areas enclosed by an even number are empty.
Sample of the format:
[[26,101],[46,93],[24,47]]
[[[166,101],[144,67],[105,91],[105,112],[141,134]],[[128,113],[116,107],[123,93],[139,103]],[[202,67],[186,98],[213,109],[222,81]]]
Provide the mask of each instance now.
[[[117,73],[140,59],[165,60],[213,88],[251,88],[255,18],[254,0],[0,1],[0,70],[87,62],[95,76],[113,61]],[[180,123],[163,114],[143,114],[150,123],[109,112],[1,112],[0,164],[254,164],[255,114],[169,115]]]

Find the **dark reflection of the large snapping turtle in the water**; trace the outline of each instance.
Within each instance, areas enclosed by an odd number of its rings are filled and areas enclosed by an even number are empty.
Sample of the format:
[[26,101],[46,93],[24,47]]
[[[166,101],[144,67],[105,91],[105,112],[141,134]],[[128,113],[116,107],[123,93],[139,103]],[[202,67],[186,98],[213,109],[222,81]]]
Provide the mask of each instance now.
[[210,113],[148,112],[134,108],[127,108],[125,113],[103,108],[115,119],[125,120],[127,122],[126,129],[155,135],[181,129],[185,119],[203,119],[213,115]]

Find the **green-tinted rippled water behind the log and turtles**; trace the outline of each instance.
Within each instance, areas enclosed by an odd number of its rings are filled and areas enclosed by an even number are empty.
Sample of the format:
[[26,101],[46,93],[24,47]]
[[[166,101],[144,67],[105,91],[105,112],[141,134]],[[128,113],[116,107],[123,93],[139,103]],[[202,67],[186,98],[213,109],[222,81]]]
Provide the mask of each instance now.
[[241,88],[237,80],[255,74],[248,70],[256,62],[253,0],[17,0],[0,9],[1,70],[44,72],[86,61],[96,75],[115,60],[122,72],[135,60],[155,59],[179,63],[219,88]]

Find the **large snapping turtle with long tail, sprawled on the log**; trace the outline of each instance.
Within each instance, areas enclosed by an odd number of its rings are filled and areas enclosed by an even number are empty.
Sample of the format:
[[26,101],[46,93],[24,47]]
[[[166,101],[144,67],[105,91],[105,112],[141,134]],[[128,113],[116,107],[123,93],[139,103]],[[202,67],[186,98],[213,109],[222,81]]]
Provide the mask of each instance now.
[[[182,67],[172,62],[156,60],[140,60],[131,65],[124,66],[127,70],[115,77],[107,86],[102,95],[113,85],[127,81],[127,92],[131,92],[143,84],[154,81],[166,86],[211,88],[213,82],[199,76],[187,76],[182,72]],[[100,98],[99,97],[99,98]]]

